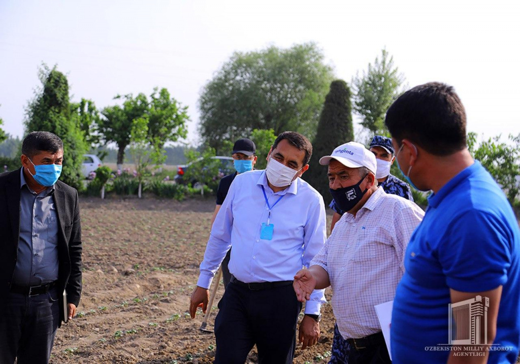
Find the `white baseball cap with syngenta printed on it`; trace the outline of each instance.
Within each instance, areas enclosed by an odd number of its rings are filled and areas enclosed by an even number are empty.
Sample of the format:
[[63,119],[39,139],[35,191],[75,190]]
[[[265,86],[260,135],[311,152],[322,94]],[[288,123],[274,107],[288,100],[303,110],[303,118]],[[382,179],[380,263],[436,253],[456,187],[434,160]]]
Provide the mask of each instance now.
[[374,174],[378,168],[374,153],[355,141],[342,144],[334,149],[331,155],[321,157],[320,164],[329,165],[331,159],[349,168],[367,167]]

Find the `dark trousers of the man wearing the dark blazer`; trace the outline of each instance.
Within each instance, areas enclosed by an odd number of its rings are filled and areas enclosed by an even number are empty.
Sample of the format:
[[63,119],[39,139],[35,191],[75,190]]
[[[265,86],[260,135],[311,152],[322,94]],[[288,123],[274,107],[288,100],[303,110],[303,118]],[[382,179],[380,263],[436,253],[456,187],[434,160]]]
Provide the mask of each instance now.
[[0,364],[46,364],[60,319],[58,292],[0,297]]

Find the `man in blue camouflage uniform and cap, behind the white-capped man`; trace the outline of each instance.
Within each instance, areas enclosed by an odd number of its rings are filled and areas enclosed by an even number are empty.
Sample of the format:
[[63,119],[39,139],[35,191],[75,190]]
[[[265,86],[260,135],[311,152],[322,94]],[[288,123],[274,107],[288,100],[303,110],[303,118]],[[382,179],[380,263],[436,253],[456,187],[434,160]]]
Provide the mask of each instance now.
[[[375,178],[378,180],[378,185],[383,187],[383,190],[386,193],[396,194],[397,196],[413,202],[410,186],[406,182],[390,174],[390,167],[395,160],[392,139],[381,135],[374,136],[370,142],[370,151],[374,153],[376,162],[378,163],[378,168],[375,174]],[[334,211],[330,228],[332,231],[334,225],[345,212],[340,209],[334,200],[332,200],[329,207]],[[332,356],[329,364],[343,363],[346,347],[347,341],[343,340],[343,337],[337,328],[337,324],[335,324],[334,339],[332,341]]]

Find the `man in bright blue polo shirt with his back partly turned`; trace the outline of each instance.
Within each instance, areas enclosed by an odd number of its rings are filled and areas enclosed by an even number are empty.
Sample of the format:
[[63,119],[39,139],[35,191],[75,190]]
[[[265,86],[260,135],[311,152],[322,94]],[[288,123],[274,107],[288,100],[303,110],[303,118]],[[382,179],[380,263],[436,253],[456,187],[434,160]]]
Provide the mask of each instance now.
[[409,183],[433,191],[397,287],[393,361],[516,362],[520,231],[504,193],[467,150],[462,102],[451,86],[427,83],[402,94],[385,124]]

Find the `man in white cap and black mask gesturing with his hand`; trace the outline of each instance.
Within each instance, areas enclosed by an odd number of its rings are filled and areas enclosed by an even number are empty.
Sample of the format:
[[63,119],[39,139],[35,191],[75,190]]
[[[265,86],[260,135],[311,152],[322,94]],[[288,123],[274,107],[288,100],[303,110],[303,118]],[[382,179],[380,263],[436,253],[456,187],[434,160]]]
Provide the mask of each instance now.
[[374,154],[356,142],[322,157],[332,197],[346,213],[308,269],[294,276],[298,301],[332,286],[332,308],[344,346],[330,363],[390,363],[374,306],[394,299],[404,254],[424,212],[387,194],[375,179]]

